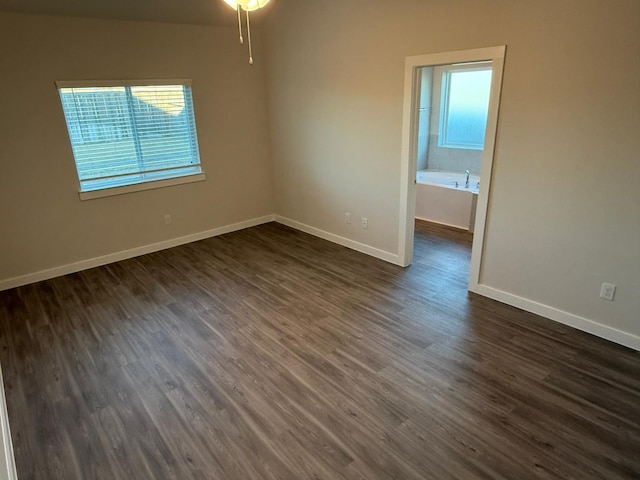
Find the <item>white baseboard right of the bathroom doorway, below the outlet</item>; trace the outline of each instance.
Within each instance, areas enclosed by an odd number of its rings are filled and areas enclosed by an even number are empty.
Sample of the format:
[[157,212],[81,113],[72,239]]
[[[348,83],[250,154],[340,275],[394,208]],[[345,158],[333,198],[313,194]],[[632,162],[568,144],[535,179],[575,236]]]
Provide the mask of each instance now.
[[479,295],[489,297],[493,300],[506,303],[507,305],[520,308],[530,313],[535,313],[536,315],[548,318],[549,320],[554,320],[564,325],[582,330],[583,332],[595,335],[596,337],[604,338],[605,340],[640,351],[640,337],[631,333],[623,332],[622,330],[603,325],[593,320],[589,320],[588,318],[580,317],[573,313],[565,312],[543,303],[519,297],[512,293],[498,290],[487,285],[475,285],[469,289]]

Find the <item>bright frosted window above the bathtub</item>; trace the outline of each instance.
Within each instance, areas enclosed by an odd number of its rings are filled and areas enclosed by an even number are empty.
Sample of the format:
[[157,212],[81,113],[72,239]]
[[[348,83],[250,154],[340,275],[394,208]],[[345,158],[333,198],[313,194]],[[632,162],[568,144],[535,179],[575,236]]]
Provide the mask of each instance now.
[[484,149],[491,68],[455,67],[442,74],[438,146]]

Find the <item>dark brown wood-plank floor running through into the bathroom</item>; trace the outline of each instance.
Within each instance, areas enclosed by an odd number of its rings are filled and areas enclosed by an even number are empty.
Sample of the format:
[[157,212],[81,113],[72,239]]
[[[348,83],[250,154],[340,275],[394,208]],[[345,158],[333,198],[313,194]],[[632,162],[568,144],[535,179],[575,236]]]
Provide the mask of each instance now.
[[640,478],[640,356],[268,224],[0,293],[20,480]]

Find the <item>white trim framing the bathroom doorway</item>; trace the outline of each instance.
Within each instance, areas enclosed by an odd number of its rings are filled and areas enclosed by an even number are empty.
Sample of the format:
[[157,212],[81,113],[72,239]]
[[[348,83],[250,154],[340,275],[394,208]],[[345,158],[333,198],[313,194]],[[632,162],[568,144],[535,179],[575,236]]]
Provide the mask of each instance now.
[[400,225],[398,229],[398,260],[404,267],[413,260],[413,236],[416,213],[416,147],[418,139],[419,95],[418,72],[422,67],[448,65],[452,63],[480,62],[491,60],[493,74],[491,76],[491,94],[487,115],[487,130],[480,170],[480,192],[476,210],[473,247],[471,249],[471,268],[469,273],[469,290],[476,291],[480,281],[482,254],[491,192],[491,173],[495,153],[496,132],[498,127],[498,110],[502,91],[502,74],[506,45],[495,47],[459,50],[455,52],[417,55],[405,59],[404,103],[402,115],[402,150],[400,168]]

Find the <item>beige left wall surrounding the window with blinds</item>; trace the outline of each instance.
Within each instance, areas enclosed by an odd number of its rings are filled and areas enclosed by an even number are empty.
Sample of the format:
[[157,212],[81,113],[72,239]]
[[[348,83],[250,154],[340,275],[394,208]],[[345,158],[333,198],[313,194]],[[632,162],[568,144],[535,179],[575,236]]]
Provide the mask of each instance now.
[[[233,28],[0,14],[0,281],[273,213],[254,40],[250,68]],[[207,180],[81,202],[54,81],[145,78],[193,80]]]

